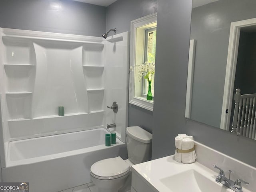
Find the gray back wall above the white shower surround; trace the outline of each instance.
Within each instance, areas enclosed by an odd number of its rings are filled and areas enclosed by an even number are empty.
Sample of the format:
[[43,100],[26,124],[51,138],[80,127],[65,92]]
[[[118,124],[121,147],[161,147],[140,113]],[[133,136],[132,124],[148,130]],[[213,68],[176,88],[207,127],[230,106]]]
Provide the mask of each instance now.
[[0,0],[0,27],[100,37],[106,8],[71,0]]

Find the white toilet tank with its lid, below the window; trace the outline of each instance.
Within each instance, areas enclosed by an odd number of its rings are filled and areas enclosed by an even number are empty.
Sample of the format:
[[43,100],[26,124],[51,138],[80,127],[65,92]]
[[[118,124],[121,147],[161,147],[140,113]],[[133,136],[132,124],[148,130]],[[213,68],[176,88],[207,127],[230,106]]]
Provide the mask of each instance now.
[[152,134],[139,126],[126,128],[128,158],[133,164],[151,160]]

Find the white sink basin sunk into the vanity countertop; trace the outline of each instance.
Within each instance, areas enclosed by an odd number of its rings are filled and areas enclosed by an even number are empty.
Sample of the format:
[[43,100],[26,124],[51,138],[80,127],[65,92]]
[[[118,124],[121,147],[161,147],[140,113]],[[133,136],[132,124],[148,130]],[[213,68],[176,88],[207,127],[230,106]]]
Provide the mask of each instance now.
[[175,192],[218,192],[222,188],[214,179],[207,178],[193,169],[162,178],[160,182]]

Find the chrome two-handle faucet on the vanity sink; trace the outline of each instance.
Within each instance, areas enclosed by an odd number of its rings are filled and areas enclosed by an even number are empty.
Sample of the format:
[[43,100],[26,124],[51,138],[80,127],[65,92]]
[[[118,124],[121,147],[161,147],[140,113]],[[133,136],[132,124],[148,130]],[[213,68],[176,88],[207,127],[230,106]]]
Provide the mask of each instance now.
[[[220,173],[219,173],[219,175],[216,177],[215,181],[216,181],[217,183],[223,184],[224,186],[226,186],[226,187],[232,189],[232,190],[235,191],[235,192],[243,192],[241,182],[244,183],[244,184],[246,184],[246,185],[249,184],[248,182],[245,182],[245,181],[242,180],[242,179],[237,179],[236,181],[232,181],[232,180],[230,180],[230,176],[229,176],[229,178],[226,178],[226,176],[225,176],[225,174],[224,174],[224,171],[223,171],[221,168],[217,167],[216,165],[214,165],[214,168],[220,170]],[[230,171],[230,172],[231,172],[231,171]]]

